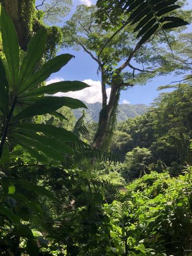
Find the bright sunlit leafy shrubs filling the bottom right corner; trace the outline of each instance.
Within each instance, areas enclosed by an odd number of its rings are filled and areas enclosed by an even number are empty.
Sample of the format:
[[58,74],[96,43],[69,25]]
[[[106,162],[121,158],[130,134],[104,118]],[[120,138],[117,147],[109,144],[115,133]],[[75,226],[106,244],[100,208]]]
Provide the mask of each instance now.
[[105,204],[111,222],[106,255],[191,255],[191,166],[170,178],[152,172]]

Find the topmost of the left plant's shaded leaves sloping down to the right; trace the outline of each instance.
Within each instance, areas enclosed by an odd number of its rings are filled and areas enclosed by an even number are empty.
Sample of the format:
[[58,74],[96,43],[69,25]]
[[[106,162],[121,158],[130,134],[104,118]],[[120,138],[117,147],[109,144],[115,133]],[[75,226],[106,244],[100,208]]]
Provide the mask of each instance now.
[[44,133],[46,136],[51,136],[61,141],[66,141],[66,142],[79,141],[79,139],[72,132],[69,132],[61,127],[55,127],[53,125],[40,124],[40,123],[22,123],[22,124],[13,125],[13,127],[14,127],[13,131],[20,132],[22,130],[28,130],[32,132],[41,132],[41,133]]

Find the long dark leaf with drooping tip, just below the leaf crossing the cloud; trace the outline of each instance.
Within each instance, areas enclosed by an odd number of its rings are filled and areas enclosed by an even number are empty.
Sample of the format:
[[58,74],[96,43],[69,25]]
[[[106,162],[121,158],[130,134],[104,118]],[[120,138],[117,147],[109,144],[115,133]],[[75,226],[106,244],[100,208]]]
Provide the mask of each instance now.
[[12,118],[12,122],[20,119],[25,119],[37,115],[44,115],[60,109],[62,106],[68,106],[71,109],[86,108],[87,106],[78,99],[69,97],[54,97],[48,96],[39,98],[34,104],[28,106],[21,111],[18,115]]

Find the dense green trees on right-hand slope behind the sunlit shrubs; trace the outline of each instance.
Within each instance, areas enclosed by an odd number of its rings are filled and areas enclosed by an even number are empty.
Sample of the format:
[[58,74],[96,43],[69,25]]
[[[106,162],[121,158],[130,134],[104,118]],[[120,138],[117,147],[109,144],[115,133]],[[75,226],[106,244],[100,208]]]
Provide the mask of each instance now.
[[188,83],[174,86],[177,89],[173,92],[162,93],[148,113],[117,125],[110,147],[120,155],[121,161],[127,152],[145,147],[153,156],[152,170],[167,169],[176,176],[186,163],[192,163],[192,102]]

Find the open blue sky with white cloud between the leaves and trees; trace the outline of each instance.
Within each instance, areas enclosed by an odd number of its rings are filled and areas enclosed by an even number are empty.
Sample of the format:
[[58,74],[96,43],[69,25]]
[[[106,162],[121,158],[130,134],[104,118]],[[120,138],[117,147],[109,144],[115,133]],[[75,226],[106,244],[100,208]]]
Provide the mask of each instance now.
[[[73,8],[71,13],[65,18],[68,19],[70,15],[75,11],[76,6],[79,4],[94,4],[96,1],[94,0],[74,0],[73,1]],[[192,9],[192,1],[189,0],[189,4],[186,7],[187,9]],[[188,32],[192,32],[192,26],[188,26]],[[97,75],[97,63],[89,57],[87,53],[83,50],[74,51],[72,49],[63,49],[59,52],[61,53],[70,53],[75,56],[67,66],[62,68],[58,73],[52,75],[50,78],[53,82],[56,80],[86,80],[92,88],[85,89],[84,91],[78,93],[69,93],[68,96],[79,98],[81,100],[85,100],[89,103],[93,103],[96,101],[101,101],[101,92],[100,92],[100,76]],[[172,81],[180,80],[182,77],[174,77],[173,75],[163,76],[163,77],[156,77],[151,82],[148,82],[145,86],[135,86],[134,88],[130,88],[127,91],[121,92],[120,103],[128,103],[131,104],[147,104],[153,102],[155,98],[158,97],[160,93],[157,91],[159,86],[166,85]],[[168,90],[166,90],[168,91]],[[163,91],[161,91],[163,92]],[[110,89],[108,90],[110,93]]]

